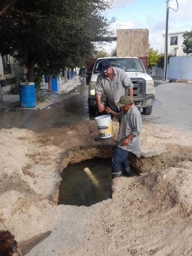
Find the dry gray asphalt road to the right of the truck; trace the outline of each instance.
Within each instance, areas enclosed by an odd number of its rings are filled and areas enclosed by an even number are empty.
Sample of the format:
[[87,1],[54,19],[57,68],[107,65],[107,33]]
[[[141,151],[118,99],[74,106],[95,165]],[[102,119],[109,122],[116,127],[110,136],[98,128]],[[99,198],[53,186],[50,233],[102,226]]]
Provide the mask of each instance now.
[[167,83],[155,88],[155,102],[151,115],[143,121],[161,123],[192,131],[192,84]]

